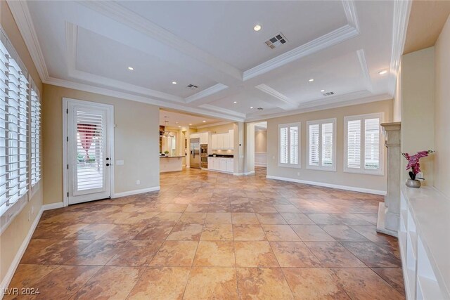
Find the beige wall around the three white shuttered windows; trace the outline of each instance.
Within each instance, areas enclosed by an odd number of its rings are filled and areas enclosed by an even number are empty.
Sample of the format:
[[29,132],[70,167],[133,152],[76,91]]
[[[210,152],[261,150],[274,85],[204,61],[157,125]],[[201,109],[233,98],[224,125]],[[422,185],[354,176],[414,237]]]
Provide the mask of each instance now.
[[[307,112],[300,115],[291,115],[267,120],[267,175],[285,178],[293,178],[303,181],[316,181],[334,185],[345,185],[371,190],[386,190],[386,171],[384,176],[374,176],[366,174],[345,173],[344,169],[344,117],[352,115],[362,115],[373,112],[385,112],[385,122],[392,120],[392,100],[385,100],[361,105],[333,108],[317,112]],[[316,171],[306,169],[307,160],[307,135],[306,122],[315,119],[337,118],[336,136],[336,172]],[[301,122],[301,164],[302,169],[278,167],[278,124]],[[386,159],[384,159],[386,164]],[[385,168],[386,169],[386,168]],[[299,174],[297,174],[297,172]]]

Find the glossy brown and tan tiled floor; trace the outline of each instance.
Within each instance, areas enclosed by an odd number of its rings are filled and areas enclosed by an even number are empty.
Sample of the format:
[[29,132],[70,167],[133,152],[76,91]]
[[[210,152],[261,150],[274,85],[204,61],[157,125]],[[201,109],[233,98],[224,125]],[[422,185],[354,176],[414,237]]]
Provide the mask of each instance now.
[[10,287],[39,289],[27,299],[404,299],[397,240],[375,232],[383,197],[263,168],[162,174],[161,188],[44,212]]

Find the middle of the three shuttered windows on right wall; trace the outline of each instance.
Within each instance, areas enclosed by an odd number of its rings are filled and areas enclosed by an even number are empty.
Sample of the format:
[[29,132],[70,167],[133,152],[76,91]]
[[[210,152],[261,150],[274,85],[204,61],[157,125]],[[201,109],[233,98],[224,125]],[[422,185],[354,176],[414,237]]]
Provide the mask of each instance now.
[[307,122],[307,169],[336,171],[336,119]]

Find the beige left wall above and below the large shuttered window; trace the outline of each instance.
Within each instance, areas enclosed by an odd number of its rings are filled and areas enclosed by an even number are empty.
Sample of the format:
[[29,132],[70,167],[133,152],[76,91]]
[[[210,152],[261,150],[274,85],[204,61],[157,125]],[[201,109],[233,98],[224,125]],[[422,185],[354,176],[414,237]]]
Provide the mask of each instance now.
[[[30,72],[34,83],[37,85],[39,91],[42,91],[41,79],[37,73],[36,67],[32,62],[30,53],[28,53],[27,47],[25,46],[25,41],[23,41],[22,36],[18,30],[17,25],[11,15],[11,11],[8,8],[6,1],[0,1],[0,24],[4,31],[8,35],[11,43],[13,44],[15,51],[17,51],[20,59],[23,61],[27,67],[28,72]],[[45,177],[45,174],[43,175]],[[11,263],[18,253],[20,245],[25,240],[27,233],[29,232],[32,223],[39,214],[39,210],[42,206],[42,182],[41,179],[40,188],[36,194],[30,199],[23,210],[15,216],[15,219],[6,228],[4,233],[0,236],[0,282],[4,283],[5,275],[8,269],[11,267]],[[34,209],[34,213],[30,220],[28,220],[28,212]],[[3,286],[2,286],[3,287]]]

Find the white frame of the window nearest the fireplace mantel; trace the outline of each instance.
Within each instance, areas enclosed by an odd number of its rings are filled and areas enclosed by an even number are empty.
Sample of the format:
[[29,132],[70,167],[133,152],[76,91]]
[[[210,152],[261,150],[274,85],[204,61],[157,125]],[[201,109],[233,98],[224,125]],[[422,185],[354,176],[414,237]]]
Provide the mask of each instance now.
[[[379,152],[378,152],[378,159],[380,162],[380,168],[378,170],[371,170],[371,169],[365,169],[364,168],[364,162],[366,158],[366,151],[364,148],[365,145],[365,139],[366,139],[366,133],[364,128],[364,120],[366,119],[380,119],[380,124],[383,124],[385,122],[385,113],[384,112],[375,112],[371,114],[364,114],[364,115],[354,115],[354,116],[345,116],[344,117],[344,172],[345,173],[354,173],[354,174],[368,174],[368,175],[376,175],[376,176],[384,176],[385,175],[385,144],[383,143],[384,137],[381,133],[381,126],[380,126],[380,141],[379,143]],[[347,137],[347,126],[349,121],[357,121],[361,120],[361,151],[360,151],[360,166],[358,169],[356,168],[349,168],[347,167],[347,143],[348,143],[348,137]]]

